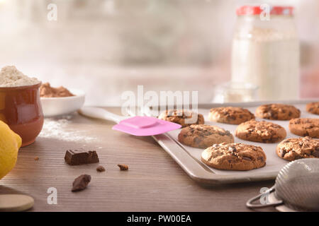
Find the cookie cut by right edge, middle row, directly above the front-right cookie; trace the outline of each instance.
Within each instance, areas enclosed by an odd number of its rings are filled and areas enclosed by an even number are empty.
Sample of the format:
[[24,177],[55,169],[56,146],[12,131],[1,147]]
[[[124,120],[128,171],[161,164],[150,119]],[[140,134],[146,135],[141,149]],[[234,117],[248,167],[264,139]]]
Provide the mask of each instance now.
[[291,119],[289,130],[298,136],[319,138],[319,119]]

